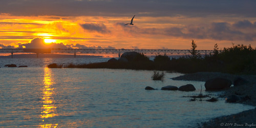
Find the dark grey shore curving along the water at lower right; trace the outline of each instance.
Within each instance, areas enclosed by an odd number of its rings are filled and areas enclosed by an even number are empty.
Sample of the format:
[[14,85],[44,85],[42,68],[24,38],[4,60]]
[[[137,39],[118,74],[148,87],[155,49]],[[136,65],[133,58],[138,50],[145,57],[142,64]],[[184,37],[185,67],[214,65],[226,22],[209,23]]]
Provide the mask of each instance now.
[[[256,75],[233,75],[219,72],[198,72],[193,74],[185,74],[173,79],[206,81],[216,77],[227,78],[231,81],[233,81],[236,77],[246,79],[248,81],[246,84],[240,87],[231,87],[230,89],[224,90],[225,93],[220,97],[227,97],[232,94],[249,96],[250,100],[240,103],[253,105],[256,107]],[[199,123],[198,127],[256,127],[256,109],[211,119],[207,122]]]

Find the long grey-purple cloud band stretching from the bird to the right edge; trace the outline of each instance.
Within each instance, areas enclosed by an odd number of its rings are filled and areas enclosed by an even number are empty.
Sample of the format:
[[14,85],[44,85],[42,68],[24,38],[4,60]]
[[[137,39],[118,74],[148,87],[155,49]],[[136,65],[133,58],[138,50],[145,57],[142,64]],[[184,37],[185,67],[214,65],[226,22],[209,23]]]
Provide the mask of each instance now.
[[[254,23],[255,24],[255,23]],[[227,22],[211,23],[210,26],[187,25],[182,27],[169,28],[140,28],[137,26],[124,26],[122,23],[116,24],[127,34],[134,36],[141,35],[165,35],[170,37],[196,38],[196,39],[214,39],[214,40],[255,40],[256,27],[253,27],[249,20],[229,24]],[[245,31],[248,29],[252,31]]]

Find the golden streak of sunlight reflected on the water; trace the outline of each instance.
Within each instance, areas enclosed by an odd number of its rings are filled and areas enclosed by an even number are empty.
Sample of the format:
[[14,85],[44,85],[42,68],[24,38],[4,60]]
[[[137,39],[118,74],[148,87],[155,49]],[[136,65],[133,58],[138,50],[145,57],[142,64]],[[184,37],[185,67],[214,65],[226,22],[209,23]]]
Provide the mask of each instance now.
[[[56,109],[57,106],[54,104],[54,91],[53,88],[54,81],[52,79],[51,69],[44,69],[44,88],[42,89],[42,106],[41,106],[41,119],[45,121],[45,119],[57,116]],[[40,127],[57,127],[58,124],[42,124]]]

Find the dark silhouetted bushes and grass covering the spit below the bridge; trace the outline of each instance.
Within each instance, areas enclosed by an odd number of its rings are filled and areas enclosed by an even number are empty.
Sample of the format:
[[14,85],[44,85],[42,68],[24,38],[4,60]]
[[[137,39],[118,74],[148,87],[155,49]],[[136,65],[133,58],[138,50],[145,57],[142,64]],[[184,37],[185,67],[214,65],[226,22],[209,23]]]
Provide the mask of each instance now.
[[[176,71],[181,73],[223,72],[231,74],[256,74],[256,49],[250,45],[232,45],[230,48],[219,50],[215,44],[214,52],[202,57],[196,50],[197,45],[191,41],[190,56],[170,59],[167,55],[157,55],[154,61],[144,54],[128,62],[113,61],[73,65],[64,68],[109,68],[134,70]],[[60,66],[57,66],[60,67]]]

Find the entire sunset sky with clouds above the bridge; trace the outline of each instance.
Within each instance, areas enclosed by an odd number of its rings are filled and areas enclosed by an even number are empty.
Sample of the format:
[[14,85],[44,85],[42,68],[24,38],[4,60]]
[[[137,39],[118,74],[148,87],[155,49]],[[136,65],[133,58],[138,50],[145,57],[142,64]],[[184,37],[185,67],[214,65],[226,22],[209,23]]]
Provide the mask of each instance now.
[[[256,47],[256,1],[1,0],[0,48]],[[131,22],[134,25],[124,25]]]

